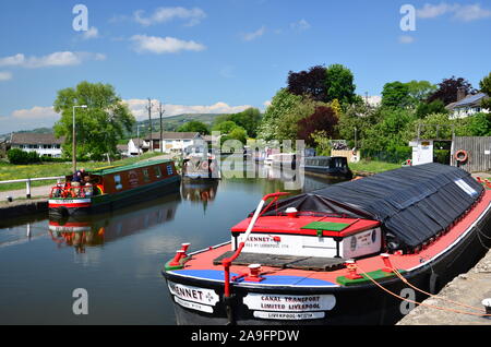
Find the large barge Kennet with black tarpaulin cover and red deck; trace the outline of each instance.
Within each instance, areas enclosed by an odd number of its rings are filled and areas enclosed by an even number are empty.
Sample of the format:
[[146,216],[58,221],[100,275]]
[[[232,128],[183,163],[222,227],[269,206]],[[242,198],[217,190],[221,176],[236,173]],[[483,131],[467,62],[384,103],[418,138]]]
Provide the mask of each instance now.
[[230,241],[183,244],[166,263],[179,324],[394,324],[404,299],[438,292],[489,246],[491,191],[458,168],[284,194],[264,196]]

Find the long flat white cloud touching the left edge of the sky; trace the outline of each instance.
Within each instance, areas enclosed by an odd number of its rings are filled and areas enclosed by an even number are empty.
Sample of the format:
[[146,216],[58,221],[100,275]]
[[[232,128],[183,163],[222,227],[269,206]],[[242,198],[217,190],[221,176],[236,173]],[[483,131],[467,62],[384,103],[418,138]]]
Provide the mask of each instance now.
[[105,60],[106,56],[91,52],[57,51],[44,57],[26,57],[17,53],[11,57],[0,58],[0,67],[20,67],[28,69],[46,67],[77,65],[84,60]]

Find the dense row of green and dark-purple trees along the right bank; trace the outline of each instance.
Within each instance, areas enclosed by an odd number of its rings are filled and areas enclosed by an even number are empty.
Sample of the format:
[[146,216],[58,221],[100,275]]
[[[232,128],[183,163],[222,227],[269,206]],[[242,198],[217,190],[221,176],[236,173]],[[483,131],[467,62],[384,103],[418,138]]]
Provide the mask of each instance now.
[[[491,95],[491,73],[479,86],[480,92]],[[421,136],[427,137],[451,139],[451,129],[457,135],[491,135],[490,113],[451,119],[445,108],[457,100],[458,93],[478,92],[463,77],[452,76],[438,85],[429,81],[386,83],[378,106],[357,96],[355,88],[351,71],[340,64],[290,72],[287,86],[277,92],[266,109],[259,137],[302,139],[320,152],[326,152],[326,140],[343,139],[368,152],[408,154],[418,124],[424,124]],[[490,101],[483,103],[484,108],[486,103]]]

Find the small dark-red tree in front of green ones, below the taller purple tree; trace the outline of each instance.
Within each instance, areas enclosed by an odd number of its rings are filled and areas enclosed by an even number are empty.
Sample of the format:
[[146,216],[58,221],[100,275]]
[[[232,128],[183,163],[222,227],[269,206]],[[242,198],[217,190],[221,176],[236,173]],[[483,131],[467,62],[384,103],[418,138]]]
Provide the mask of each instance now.
[[316,145],[312,134],[323,132],[328,137],[336,135],[337,116],[331,107],[319,106],[315,111],[298,122],[298,139],[307,144]]

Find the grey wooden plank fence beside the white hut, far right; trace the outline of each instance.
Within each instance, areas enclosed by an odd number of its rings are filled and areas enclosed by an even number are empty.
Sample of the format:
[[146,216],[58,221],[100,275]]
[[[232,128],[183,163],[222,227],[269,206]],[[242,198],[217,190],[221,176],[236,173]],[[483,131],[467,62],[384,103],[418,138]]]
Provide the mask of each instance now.
[[[465,151],[467,160],[458,161],[455,155]],[[484,172],[491,170],[491,136],[455,136],[452,144],[452,166],[468,172]]]

